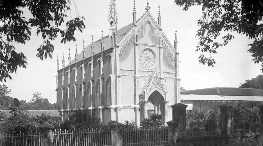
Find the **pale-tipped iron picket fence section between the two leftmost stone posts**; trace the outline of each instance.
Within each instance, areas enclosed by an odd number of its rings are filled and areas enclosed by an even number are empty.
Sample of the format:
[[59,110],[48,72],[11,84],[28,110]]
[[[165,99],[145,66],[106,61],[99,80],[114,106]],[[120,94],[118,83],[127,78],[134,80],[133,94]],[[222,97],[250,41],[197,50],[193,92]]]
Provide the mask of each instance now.
[[53,131],[54,146],[107,146],[111,145],[109,128]]

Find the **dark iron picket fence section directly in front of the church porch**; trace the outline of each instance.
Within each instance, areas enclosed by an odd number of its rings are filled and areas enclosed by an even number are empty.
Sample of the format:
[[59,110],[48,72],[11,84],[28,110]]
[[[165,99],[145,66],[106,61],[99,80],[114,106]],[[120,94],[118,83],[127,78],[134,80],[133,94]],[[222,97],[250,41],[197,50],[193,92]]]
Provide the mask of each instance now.
[[162,146],[169,145],[169,128],[124,128],[123,145],[126,146]]

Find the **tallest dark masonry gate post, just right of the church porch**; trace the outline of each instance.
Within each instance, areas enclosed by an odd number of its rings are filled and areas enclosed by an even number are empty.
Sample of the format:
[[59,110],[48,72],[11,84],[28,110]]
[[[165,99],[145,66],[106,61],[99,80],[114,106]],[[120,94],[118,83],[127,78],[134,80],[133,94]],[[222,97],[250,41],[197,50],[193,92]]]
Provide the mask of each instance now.
[[186,107],[187,105],[177,103],[171,105],[173,109],[173,120],[178,120],[179,122],[179,136],[186,135]]

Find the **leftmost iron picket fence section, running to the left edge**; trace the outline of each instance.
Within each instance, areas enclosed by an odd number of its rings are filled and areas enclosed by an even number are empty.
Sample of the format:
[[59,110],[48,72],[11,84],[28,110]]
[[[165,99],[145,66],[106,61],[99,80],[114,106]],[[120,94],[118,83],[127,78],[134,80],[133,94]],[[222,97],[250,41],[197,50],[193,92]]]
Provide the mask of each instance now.
[[0,133],[1,146],[40,146],[41,134],[39,131],[25,131]]

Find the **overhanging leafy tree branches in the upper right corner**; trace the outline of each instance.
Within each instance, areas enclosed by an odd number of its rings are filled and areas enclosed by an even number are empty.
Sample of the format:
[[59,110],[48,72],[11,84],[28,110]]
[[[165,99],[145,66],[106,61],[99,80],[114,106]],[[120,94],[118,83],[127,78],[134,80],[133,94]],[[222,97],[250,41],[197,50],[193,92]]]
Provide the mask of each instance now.
[[[234,36],[230,32],[245,34],[253,39],[248,52],[252,53],[254,63],[261,62],[263,71],[263,1],[248,0],[175,0],[175,4],[183,6],[183,11],[195,5],[202,5],[203,15],[198,20],[196,36],[199,42],[195,51],[202,53],[198,57],[199,63],[214,66],[216,63],[211,54],[226,46]],[[222,36],[222,32],[228,32]],[[221,37],[223,43],[218,41]],[[209,57],[207,57],[209,55]]]

